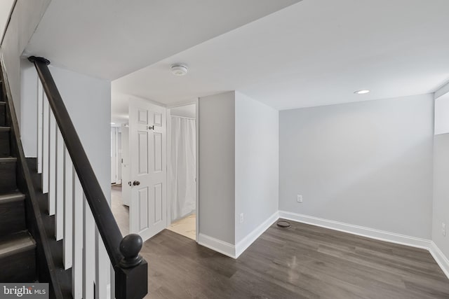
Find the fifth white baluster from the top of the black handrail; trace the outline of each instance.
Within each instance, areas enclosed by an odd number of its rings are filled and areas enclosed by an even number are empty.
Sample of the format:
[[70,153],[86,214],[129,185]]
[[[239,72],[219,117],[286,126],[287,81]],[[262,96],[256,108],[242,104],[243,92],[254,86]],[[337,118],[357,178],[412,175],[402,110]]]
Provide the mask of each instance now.
[[64,267],[65,270],[72,267],[73,244],[73,165],[69,151],[64,148]]

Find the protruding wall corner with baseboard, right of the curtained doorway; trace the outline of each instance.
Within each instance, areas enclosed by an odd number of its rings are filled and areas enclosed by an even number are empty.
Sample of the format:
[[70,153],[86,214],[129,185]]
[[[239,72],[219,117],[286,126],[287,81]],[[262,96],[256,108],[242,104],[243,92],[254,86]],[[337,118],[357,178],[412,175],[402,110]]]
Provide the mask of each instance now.
[[279,111],[226,92],[200,98],[198,117],[199,242],[236,257],[276,220]]

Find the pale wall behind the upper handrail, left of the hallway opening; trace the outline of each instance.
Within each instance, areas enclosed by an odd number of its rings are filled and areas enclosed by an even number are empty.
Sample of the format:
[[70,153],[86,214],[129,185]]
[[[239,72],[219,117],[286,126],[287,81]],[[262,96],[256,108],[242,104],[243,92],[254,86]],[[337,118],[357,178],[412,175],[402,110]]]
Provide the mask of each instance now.
[[[62,100],[81,143],[110,200],[111,181],[111,83],[50,66]],[[36,157],[37,76],[31,62],[22,61],[21,139],[26,157]]]

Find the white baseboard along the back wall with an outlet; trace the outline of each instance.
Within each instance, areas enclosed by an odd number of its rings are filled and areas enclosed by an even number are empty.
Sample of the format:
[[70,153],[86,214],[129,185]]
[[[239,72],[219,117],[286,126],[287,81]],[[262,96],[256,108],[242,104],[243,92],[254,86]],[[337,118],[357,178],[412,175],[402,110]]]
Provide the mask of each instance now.
[[375,230],[374,228],[366,228],[363,226],[342,223],[338,221],[326,220],[313,216],[296,214],[288,211],[279,211],[279,218],[284,218],[292,221],[307,223],[311,225],[321,226],[323,228],[330,228],[331,230],[339,230],[340,232],[349,232],[353,235],[368,237],[371,239],[378,239],[396,244],[402,244],[421,249],[430,248],[430,240],[421,239],[417,237],[410,237],[406,235],[396,234],[395,232],[386,232],[384,230]]

